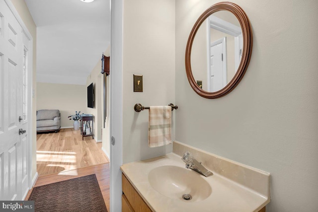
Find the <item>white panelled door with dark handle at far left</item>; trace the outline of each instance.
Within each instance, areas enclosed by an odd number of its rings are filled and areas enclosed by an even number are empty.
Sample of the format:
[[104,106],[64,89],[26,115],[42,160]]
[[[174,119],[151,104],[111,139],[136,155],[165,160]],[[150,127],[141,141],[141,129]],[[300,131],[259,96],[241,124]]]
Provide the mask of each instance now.
[[19,129],[27,131],[27,120],[23,120],[25,47],[22,28],[4,0],[0,0],[0,22],[0,200],[21,200],[28,190],[29,142],[26,134],[19,135]]

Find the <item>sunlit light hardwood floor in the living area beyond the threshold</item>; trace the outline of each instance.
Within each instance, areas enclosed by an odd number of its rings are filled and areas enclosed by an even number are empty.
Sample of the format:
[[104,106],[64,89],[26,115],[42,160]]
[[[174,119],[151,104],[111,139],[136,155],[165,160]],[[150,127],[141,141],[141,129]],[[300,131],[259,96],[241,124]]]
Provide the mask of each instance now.
[[91,137],[82,141],[80,131],[61,129],[59,133],[37,135],[37,172],[39,176],[108,163],[102,143]]

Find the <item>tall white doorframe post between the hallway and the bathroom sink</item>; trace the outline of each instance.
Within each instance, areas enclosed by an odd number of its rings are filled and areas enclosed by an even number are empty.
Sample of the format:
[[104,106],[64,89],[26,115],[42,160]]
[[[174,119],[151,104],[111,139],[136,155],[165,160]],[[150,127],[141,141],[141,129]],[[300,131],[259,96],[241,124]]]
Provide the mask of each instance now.
[[[123,164],[123,0],[110,0],[110,212],[121,211]],[[115,83],[116,82],[116,83]],[[114,139],[112,140],[113,137]]]

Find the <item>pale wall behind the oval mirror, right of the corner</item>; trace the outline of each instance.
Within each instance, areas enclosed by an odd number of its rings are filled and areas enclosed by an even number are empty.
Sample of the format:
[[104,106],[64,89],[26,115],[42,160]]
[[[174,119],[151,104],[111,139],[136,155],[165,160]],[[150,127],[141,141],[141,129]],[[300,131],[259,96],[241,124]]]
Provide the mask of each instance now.
[[253,29],[239,85],[219,99],[190,87],[185,47],[216,0],[176,0],[176,140],[271,173],[267,212],[313,212],[318,203],[318,2],[234,0]]

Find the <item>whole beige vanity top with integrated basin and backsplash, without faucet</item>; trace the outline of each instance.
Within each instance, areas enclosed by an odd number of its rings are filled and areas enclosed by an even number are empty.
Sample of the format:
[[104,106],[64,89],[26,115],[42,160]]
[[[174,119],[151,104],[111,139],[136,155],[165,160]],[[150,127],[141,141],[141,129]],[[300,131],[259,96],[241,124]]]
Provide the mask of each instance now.
[[[214,172],[205,177],[185,168],[180,159],[190,147],[177,141],[173,145],[179,154],[172,152],[120,167],[151,211],[258,212],[270,202],[269,173],[193,148]],[[184,194],[192,199],[184,200]]]

